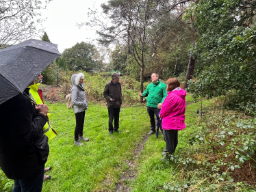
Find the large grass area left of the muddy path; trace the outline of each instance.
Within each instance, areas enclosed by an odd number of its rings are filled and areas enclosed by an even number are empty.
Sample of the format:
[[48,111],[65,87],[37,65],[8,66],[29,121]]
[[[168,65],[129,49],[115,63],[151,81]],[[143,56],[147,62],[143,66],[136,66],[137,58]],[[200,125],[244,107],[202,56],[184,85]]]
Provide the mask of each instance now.
[[74,146],[75,114],[62,103],[49,104],[51,124],[59,134],[49,141],[47,166],[52,179],[43,191],[114,191],[120,173],[128,169],[133,151],[149,131],[146,107],[126,107],[120,111],[120,134],[107,131],[107,108],[89,104],[84,137],[90,141]]

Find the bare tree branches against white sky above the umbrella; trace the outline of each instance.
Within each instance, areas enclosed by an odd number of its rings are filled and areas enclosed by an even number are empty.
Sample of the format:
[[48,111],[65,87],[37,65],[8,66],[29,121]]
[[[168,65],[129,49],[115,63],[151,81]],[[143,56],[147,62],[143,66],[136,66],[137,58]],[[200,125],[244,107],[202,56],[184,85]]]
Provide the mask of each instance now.
[[51,0],[1,0],[0,47],[21,42],[42,32],[40,10]]

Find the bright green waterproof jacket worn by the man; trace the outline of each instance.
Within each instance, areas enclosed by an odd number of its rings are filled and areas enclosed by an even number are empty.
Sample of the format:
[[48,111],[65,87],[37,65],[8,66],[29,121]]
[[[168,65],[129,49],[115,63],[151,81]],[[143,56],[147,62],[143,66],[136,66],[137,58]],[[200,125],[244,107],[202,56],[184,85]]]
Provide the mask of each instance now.
[[146,100],[146,106],[157,108],[157,105],[164,102],[167,96],[166,84],[161,83],[158,80],[157,83],[150,83],[146,90],[142,93],[143,97],[148,97]]

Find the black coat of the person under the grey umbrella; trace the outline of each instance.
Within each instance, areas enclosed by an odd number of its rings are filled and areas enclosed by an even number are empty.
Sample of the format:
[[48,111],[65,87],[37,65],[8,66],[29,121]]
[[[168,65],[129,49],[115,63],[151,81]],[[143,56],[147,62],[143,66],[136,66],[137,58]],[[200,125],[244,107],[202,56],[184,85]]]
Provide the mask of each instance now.
[[0,105],[0,167],[8,178],[26,178],[42,169],[49,154],[42,130],[46,122],[23,94]]

